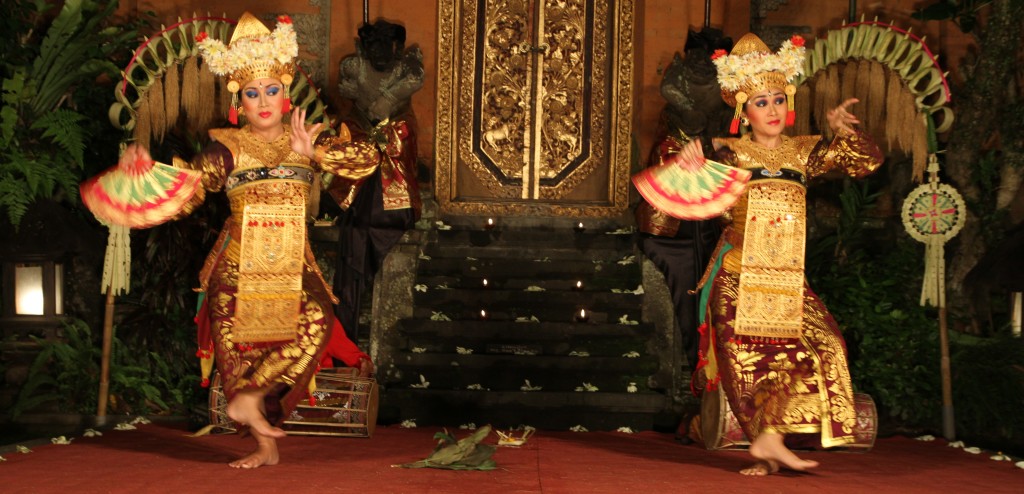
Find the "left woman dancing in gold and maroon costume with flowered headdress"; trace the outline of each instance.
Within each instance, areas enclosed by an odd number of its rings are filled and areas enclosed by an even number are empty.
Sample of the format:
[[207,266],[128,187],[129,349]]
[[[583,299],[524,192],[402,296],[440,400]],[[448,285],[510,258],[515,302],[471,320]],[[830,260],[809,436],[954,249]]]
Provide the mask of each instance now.
[[[328,346],[358,360],[332,340],[332,333],[344,331],[306,238],[306,200],[314,170],[364,178],[380,153],[371,140],[319,133],[319,124],[306,128],[304,110],[285,123],[298,54],[289,17],[278,17],[271,33],[247,12],[227,46],[206,33],[197,41],[204,64],[227,78],[231,122],[238,123],[239,98],[247,121],[211,130],[213,142],[189,163],[175,160],[202,172],[202,188],[181,214],[202,203],[206,192],[224,191],[231,208],[200,274],[199,355],[206,377],[216,364],[227,415],[256,440],[255,451],[229,464],[256,468],[279,462],[276,440],[285,436],[279,425],[309,396]],[[152,158],[130,146],[121,161]]]

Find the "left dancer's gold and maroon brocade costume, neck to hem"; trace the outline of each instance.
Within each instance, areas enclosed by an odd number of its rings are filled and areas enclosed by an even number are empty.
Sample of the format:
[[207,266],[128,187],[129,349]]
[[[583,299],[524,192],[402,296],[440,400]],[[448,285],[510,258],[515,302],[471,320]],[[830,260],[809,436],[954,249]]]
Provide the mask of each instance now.
[[[215,142],[187,166],[203,171],[206,192],[226,192],[231,216],[200,274],[206,295],[197,318],[200,354],[216,357],[228,400],[270,388],[267,416],[274,422],[305,396],[330,340],[336,302],[306,239],[313,172],[359,179],[380,156],[372,142],[322,134],[311,162],[292,151],[288,125],[270,142],[248,127],[210,136]],[[204,197],[197,195],[184,212]],[[272,398],[280,399],[273,406]]]

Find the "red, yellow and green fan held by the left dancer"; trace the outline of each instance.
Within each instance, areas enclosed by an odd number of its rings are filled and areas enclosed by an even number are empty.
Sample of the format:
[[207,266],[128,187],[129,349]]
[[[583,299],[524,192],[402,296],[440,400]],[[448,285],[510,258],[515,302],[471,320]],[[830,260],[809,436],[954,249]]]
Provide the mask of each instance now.
[[200,190],[202,177],[198,170],[136,161],[83,182],[82,202],[106,224],[145,229],[179,213]]

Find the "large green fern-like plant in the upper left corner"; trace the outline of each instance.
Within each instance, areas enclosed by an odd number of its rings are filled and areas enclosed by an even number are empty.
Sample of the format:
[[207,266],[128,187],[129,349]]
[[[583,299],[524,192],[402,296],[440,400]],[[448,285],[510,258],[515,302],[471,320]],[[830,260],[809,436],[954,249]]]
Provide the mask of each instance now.
[[[4,4],[0,13],[10,30],[3,34],[3,51],[19,54],[0,56],[0,211],[17,225],[38,198],[77,202],[86,143],[99,143],[91,137],[101,120],[96,116],[109,105],[91,98],[90,88],[97,77],[117,76],[114,55],[127,51],[138,34],[132,25],[104,26],[116,1]],[[46,24],[56,5],[59,11]],[[45,35],[40,40],[36,33]],[[108,153],[116,151],[112,146]]]

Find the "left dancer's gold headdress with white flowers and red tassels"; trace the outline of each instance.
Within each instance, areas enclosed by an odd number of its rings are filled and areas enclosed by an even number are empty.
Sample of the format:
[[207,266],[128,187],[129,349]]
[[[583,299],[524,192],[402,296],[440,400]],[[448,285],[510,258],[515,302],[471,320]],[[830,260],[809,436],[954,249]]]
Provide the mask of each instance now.
[[[255,79],[279,79],[285,85],[285,94],[295,74],[295,58],[299,55],[299,42],[288,15],[278,16],[278,27],[270,32],[256,16],[246,12],[231,33],[231,40],[212,39],[206,33],[196,37],[203,59],[218,76],[227,77],[227,90],[231,92],[231,123],[238,124],[239,89]],[[288,112],[290,98],[285,99]]]

